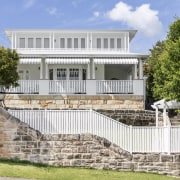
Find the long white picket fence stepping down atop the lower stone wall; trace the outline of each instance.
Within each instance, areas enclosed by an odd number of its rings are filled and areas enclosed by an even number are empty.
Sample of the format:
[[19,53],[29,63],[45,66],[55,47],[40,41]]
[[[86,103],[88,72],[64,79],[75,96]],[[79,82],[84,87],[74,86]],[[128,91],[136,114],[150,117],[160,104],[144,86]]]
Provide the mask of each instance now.
[[180,152],[180,127],[127,126],[93,110],[9,110],[43,134],[91,133],[129,152]]

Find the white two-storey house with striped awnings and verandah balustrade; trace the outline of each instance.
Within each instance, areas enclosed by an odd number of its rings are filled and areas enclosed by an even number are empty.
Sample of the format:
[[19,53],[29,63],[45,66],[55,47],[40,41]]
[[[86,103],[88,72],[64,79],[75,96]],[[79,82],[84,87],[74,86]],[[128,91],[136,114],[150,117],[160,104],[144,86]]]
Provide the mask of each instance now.
[[25,94],[144,95],[143,61],[131,53],[135,30],[5,30],[20,55]]

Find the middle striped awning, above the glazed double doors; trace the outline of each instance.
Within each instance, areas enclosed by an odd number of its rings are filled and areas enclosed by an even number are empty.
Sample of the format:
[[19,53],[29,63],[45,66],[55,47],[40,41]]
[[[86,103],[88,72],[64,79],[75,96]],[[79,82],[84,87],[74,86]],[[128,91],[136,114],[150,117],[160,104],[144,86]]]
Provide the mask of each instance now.
[[46,64],[88,64],[89,58],[46,58]]

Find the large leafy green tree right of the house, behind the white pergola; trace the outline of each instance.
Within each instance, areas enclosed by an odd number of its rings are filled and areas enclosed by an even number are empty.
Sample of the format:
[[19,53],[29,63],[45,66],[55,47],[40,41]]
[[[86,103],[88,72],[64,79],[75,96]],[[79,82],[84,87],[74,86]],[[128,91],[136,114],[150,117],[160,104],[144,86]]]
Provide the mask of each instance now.
[[180,101],[180,19],[170,25],[167,39],[150,50],[147,94]]

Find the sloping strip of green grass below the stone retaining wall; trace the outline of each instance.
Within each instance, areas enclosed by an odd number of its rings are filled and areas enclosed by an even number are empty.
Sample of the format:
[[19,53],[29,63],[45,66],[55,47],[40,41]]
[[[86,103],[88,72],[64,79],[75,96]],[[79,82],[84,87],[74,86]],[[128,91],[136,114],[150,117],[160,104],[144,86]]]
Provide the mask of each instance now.
[[1,160],[0,176],[42,180],[177,180],[150,173],[37,166]]

